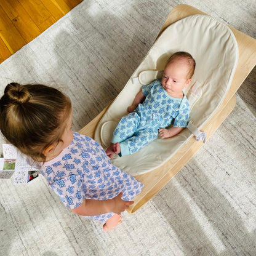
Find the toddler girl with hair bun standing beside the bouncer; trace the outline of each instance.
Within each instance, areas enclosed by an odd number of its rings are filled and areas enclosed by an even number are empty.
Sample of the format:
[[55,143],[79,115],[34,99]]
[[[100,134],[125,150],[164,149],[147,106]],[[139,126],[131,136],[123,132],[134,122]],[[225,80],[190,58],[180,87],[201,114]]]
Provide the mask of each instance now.
[[0,100],[4,137],[40,169],[50,188],[72,212],[105,222],[121,222],[143,184],[113,166],[92,138],[71,130],[70,99],[41,84],[6,86]]

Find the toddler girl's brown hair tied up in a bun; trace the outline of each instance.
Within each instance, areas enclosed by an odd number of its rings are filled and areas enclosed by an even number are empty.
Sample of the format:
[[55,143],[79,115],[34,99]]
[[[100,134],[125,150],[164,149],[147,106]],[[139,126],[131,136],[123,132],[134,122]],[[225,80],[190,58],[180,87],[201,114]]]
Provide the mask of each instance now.
[[62,141],[70,113],[70,98],[54,87],[11,82],[0,99],[0,130],[23,154],[44,162],[44,150]]

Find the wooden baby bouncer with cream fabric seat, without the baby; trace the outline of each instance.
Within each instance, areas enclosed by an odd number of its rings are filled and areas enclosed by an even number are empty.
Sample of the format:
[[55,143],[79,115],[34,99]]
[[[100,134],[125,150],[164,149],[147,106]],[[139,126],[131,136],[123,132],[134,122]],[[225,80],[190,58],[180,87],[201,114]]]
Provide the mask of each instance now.
[[177,6],[122,92],[79,132],[94,137],[106,149],[116,124],[127,114],[127,106],[142,85],[161,78],[169,55],[180,50],[190,52],[196,60],[193,80],[184,92],[191,106],[188,129],[111,160],[144,184],[129,213],[158,193],[222,124],[236,104],[234,93],[256,63],[255,39],[194,7]]

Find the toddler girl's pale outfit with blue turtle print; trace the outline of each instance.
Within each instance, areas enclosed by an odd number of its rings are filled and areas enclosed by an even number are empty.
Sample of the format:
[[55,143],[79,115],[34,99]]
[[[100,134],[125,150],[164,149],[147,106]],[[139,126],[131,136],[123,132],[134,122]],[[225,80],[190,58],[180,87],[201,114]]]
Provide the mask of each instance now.
[[[111,164],[102,146],[90,137],[73,132],[74,138],[57,158],[45,162],[41,173],[63,203],[74,209],[84,199],[106,200],[123,193],[131,201],[143,184]],[[113,212],[88,216],[105,222]]]

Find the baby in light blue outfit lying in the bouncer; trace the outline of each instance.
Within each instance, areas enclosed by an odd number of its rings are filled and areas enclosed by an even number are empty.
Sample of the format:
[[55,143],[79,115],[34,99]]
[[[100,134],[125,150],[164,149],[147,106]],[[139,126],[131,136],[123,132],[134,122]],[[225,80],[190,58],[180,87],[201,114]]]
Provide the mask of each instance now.
[[[183,89],[188,87],[196,62],[188,52],[176,52],[167,60],[162,80],[156,79],[138,92],[114,130],[107,156],[124,156],[142,149],[158,137],[170,138],[188,124],[190,105]],[[173,124],[172,127],[166,127]]]

